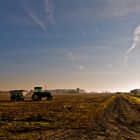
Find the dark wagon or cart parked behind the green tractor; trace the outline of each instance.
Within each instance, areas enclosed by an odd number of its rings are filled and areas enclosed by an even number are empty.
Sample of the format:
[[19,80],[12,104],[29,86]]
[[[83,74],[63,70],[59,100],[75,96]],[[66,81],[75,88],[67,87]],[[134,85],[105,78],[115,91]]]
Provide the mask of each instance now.
[[24,90],[11,90],[10,99],[11,101],[23,101],[24,100]]

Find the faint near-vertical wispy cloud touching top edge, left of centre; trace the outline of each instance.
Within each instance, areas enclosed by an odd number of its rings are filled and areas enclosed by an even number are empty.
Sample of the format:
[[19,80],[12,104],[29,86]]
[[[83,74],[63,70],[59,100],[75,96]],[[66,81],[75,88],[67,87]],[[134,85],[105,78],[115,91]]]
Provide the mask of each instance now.
[[48,21],[52,24],[54,22],[54,3],[52,0],[43,0],[45,12],[47,14]]

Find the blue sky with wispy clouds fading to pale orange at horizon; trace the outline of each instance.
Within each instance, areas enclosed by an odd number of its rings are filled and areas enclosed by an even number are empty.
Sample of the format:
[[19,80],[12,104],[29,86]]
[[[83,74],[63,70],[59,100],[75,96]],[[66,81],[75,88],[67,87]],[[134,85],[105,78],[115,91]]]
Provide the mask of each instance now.
[[140,88],[139,0],[0,0],[0,89]]

